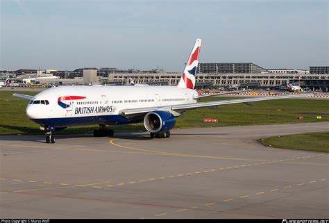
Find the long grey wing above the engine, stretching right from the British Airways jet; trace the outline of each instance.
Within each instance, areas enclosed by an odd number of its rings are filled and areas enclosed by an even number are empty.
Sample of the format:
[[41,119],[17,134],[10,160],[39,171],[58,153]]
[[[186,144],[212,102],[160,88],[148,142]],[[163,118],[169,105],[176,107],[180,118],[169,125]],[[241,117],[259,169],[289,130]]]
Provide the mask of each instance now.
[[249,104],[253,101],[267,101],[273,99],[291,99],[291,98],[298,98],[298,97],[307,97],[312,94],[291,94],[291,95],[282,95],[282,96],[273,96],[273,97],[257,97],[257,98],[247,98],[247,99],[232,99],[232,100],[222,100],[222,101],[206,101],[206,102],[199,102],[195,104],[182,104],[176,106],[159,106],[159,107],[149,107],[149,108],[132,108],[132,109],[124,109],[119,112],[119,115],[123,115],[124,117],[128,118],[136,118],[142,117],[151,111],[155,110],[167,110],[172,113],[174,116],[179,116],[181,112],[185,110],[192,110],[196,108],[205,108],[205,107],[216,107],[222,106],[225,104],[237,104],[237,103],[245,103]]

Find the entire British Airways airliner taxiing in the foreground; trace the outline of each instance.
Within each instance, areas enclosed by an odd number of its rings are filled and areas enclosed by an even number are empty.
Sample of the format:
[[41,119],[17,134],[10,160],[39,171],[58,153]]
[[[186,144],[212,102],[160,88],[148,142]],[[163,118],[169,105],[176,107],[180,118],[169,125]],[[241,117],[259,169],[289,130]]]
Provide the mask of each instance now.
[[[46,142],[55,143],[53,133],[68,126],[99,124],[94,130],[95,137],[110,136],[114,132],[106,125],[144,123],[150,138],[169,138],[176,118],[186,110],[196,108],[217,108],[225,104],[246,103],[273,99],[301,97],[285,95],[225,101],[199,102],[203,97],[242,92],[221,92],[201,94],[194,89],[196,69],[199,64],[201,39],[196,39],[189,54],[183,75],[177,86],[163,85],[90,85],[60,86],[49,88],[35,96],[13,94],[14,97],[28,99],[26,115],[40,124],[46,132]],[[303,94],[305,96],[307,94]]]

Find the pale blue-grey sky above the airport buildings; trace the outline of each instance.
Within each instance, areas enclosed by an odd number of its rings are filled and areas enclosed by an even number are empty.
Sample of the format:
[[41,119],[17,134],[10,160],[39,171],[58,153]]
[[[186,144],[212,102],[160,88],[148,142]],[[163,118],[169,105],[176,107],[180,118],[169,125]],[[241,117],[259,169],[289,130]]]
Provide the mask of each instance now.
[[0,0],[0,69],[329,65],[328,0]]

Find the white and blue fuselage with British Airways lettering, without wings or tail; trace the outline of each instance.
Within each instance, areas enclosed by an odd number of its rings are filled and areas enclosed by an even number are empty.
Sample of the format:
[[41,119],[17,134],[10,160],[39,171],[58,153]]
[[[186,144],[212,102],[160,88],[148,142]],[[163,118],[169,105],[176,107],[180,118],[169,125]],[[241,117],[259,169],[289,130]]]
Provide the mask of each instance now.
[[74,126],[141,122],[119,115],[121,110],[194,104],[196,90],[176,86],[62,86],[35,95],[26,108],[39,124]]

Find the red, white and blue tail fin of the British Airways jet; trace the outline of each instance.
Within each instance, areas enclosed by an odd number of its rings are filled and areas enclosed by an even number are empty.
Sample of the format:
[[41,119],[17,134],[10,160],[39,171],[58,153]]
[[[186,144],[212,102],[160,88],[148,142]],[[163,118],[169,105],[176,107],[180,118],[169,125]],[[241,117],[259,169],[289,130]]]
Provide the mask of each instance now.
[[178,88],[194,89],[196,69],[198,68],[199,63],[200,47],[201,39],[196,39],[192,52],[187,60],[183,75],[178,83]]

